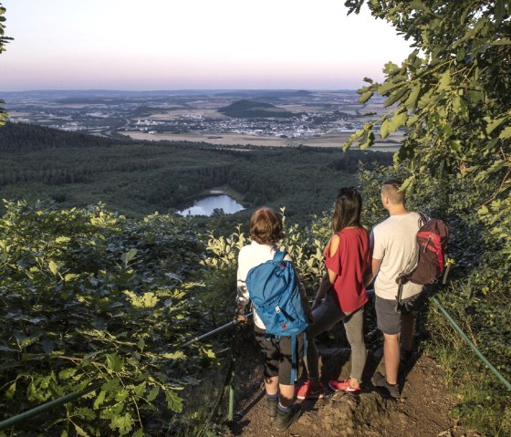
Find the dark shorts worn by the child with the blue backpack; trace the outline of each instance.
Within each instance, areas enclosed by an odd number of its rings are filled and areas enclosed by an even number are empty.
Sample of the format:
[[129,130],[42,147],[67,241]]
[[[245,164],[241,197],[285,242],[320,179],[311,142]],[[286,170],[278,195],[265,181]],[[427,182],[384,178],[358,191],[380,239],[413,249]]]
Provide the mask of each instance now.
[[[297,335],[295,349],[295,366],[303,356],[303,334]],[[293,385],[292,339],[291,337],[275,338],[266,336],[266,330],[255,327],[255,340],[263,352],[265,378],[278,376],[279,384]],[[297,369],[298,370],[298,369]],[[298,371],[296,372],[298,374]]]

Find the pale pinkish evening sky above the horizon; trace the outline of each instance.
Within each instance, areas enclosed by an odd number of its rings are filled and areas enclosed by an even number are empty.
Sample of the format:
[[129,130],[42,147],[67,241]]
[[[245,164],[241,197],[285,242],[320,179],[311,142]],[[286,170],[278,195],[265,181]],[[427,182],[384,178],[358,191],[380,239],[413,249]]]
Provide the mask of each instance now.
[[0,0],[0,90],[355,89],[412,51],[344,0]]

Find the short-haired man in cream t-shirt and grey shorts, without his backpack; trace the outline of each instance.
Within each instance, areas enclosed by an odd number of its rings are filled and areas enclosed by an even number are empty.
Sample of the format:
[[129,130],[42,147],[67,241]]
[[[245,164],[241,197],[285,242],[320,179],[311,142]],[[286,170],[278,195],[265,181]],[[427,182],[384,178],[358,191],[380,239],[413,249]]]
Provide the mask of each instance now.
[[399,286],[396,278],[408,270],[417,259],[416,234],[420,227],[419,213],[409,212],[404,205],[401,182],[389,180],[381,186],[381,203],[390,217],[374,227],[370,235],[372,263],[369,285],[376,276],[376,319],[383,332],[385,376],[376,372],[372,382],[388,391],[393,398],[400,397],[398,370],[403,356],[410,358],[413,341],[412,308],[422,286],[409,282],[403,286],[401,306],[397,306]]

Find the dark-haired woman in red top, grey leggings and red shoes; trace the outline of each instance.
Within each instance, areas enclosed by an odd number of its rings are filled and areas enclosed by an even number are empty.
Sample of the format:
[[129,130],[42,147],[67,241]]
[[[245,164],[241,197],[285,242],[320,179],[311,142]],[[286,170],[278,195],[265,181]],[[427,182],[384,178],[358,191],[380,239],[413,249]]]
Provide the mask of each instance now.
[[360,391],[362,370],[366,363],[363,308],[368,301],[363,276],[370,266],[370,237],[360,225],[361,206],[360,192],[355,188],[339,190],[332,218],[334,234],[325,249],[327,272],[312,305],[313,322],[307,329],[308,380],[297,388],[297,399],[323,397],[314,337],[328,331],[341,320],[351,346],[351,374],[348,380],[329,381],[328,386],[336,391]]

